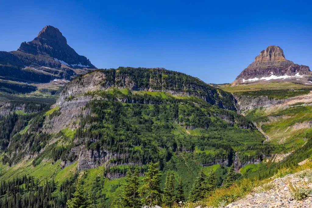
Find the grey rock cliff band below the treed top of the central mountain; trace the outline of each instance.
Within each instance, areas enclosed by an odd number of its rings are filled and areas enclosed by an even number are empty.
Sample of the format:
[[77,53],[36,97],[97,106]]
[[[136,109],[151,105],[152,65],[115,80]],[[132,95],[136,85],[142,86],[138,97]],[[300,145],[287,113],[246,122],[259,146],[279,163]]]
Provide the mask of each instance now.
[[[134,70],[139,71],[149,69]],[[158,71],[154,71],[153,73],[156,74],[158,73]],[[171,71],[169,71],[169,73],[171,73]],[[131,75],[126,75],[123,72],[120,72],[120,70],[118,69],[115,70],[113,74],[114,80],[111,80],[111,77],[106,74],[106,71],[96,71],[83,77],[79,77],[78,79],[72,80],[71,83],[65,86],[63,93],[60,95],[60,98],[57,101],[57,105],[61,104],[63,100],[66,99],[66,97],[68,96],[76,96],[79,94],[84,94],[88,91],[105,90],[109,89],[110,87],[116,87],[119,89],[128,88],[133,91],[163,91],[172,95],[196,96],[206,100],[210,104],[216,104],[220,108],[236,110],[236,100],[232,95],[221,94],[221,91],[217,91],[215,88],[208,86],[202,81],[198,81],[198,83],[186,82],[185,85],[180,88],[177,88],[177,86],[169,88],[163,86],[163,84],[161,83],[164,82],[164,80],[159,81],[158,76],[155,76],[149,78],[148,85],[141,86],[139,83],[136,83]],[[161,77],[162,75],[163,74],[160,74]],[[231,105],[227,106],[225,103],[222,102],[224,96],[229,96],[229,99],[231,99]],[[136,101],[131,100],[131,102],[133,103]]]

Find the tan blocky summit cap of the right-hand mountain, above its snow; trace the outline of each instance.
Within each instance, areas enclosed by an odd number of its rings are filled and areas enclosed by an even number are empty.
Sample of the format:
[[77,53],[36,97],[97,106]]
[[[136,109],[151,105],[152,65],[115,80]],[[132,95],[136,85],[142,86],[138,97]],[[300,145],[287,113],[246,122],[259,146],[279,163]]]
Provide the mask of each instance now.
[[261,51],[260,55],[255,58],[255,62],[284,60],[286,60],[284,51],[280,48],[280,46],[268,46],[266,50]]

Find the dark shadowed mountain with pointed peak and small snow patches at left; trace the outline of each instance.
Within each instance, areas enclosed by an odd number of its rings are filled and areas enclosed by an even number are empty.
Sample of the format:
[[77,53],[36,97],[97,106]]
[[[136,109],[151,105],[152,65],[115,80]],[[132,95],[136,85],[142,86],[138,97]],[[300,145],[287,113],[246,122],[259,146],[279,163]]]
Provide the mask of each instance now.
[[44,27],[34,40],[22,42],[17,51],[0,51],[0,77],[5,80],[38,83],[71,80],[93,69],[96,67],[90,60],[77,54],[52,26]]

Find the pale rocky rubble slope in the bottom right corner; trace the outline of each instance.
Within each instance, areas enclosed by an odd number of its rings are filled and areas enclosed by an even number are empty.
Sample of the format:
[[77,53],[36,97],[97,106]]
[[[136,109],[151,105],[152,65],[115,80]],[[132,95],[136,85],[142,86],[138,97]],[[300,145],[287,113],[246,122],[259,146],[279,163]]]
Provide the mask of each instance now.
[[225,208],[312,207],[312,170],[276,178]]

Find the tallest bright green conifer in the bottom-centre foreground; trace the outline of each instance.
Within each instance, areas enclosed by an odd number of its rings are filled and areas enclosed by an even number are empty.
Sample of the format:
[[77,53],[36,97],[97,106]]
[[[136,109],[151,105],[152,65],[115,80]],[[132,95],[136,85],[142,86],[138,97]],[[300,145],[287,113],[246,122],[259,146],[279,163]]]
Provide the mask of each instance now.
[[142,203],[149,206],[161,203],[161,193],[159,188],[161,171],[158,170],[159,162],[149,163],[148,171],[145,172],[143,185],[139,188],[140,196],[144,196]]

